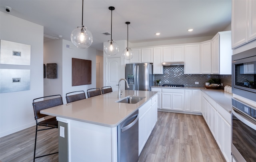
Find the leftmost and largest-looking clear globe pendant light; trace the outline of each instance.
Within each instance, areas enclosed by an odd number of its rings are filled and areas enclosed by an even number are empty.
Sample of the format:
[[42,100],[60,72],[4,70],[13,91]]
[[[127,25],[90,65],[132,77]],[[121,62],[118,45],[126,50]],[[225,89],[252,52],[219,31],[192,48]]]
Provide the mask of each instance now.
[[71,33],[71,42],[77,48],[88,48],[92,44],[92,33],[83,25],[84,0],[82,0],[82,26],[78,26]]

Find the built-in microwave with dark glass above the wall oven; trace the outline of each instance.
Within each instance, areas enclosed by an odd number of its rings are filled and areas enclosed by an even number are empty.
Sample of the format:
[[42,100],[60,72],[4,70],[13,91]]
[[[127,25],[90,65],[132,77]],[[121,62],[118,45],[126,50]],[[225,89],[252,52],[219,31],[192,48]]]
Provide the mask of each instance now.
[[232,93],[256,102],[256,48],[232,55]]

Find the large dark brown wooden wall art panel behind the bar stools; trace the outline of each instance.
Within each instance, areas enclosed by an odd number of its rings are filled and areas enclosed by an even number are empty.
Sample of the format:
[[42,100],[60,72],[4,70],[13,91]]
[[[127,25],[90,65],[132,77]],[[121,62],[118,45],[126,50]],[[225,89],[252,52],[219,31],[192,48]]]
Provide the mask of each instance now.
[[72,86],[92,84],[92,61],[72,58]]

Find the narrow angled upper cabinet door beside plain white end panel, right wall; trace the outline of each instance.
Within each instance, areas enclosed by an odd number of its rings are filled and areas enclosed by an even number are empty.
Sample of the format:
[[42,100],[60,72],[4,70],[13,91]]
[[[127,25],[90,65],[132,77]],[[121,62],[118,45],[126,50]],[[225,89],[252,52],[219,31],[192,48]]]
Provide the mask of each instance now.
[[[230,60],[227,60],[230,61]],[[220,73],[220,35],[212,40],[212,74]]]

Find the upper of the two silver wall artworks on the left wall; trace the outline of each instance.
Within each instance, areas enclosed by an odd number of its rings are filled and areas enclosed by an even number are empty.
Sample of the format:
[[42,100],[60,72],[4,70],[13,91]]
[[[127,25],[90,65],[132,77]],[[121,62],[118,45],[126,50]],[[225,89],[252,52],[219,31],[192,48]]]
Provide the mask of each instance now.
[[0,64],[30,65],[31,46],[0,40]]

